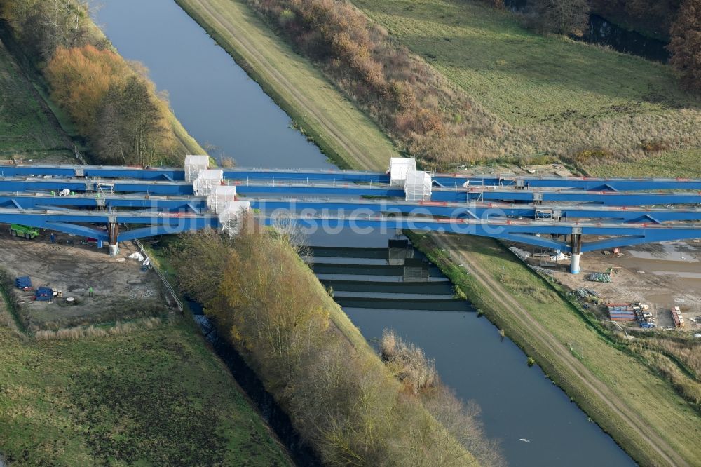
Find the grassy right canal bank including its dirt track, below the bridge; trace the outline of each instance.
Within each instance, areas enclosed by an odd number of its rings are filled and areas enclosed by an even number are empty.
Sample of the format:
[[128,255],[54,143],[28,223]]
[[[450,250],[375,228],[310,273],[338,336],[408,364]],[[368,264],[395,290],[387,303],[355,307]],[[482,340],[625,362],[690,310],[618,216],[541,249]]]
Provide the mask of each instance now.
[[[688,443],[669,435],[675,427],[691,439],[701,435],[695,411],[648,367],[601,339],[571,304],[510,252],[484,239],[409,235],[639,463],[697,463]],[[465,268],[442,248],[456,252]]]

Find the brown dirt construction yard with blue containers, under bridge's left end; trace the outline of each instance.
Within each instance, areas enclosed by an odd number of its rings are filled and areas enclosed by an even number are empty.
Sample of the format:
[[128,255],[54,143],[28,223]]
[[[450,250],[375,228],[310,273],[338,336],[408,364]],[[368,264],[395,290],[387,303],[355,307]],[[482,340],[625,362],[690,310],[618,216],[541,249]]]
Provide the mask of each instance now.
[[[143,272],[130,242],[120,245],[117,257],[82,238],[42,231],[34,240],[10,236],[0,224],[0,267],[15,276],[29,276],[32,285],[62,291],[52,302],[36,302],[34,292],[16,290],[22,301],[22,320],[29,331],[151,316],[165,311],[161,281],[154,271]],[[88,290],[93,287],[93,297]],[[73,304],[67,298],[73,298]]]

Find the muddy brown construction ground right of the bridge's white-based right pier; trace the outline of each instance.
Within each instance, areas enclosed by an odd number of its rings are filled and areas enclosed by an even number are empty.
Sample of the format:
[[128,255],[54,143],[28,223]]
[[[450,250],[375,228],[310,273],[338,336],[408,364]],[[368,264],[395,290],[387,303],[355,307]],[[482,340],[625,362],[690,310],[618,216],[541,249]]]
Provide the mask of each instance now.
[[[580,274],[566,272],[566,261],[555,277],[573,289],[595,290],[604,302],[649,304],[658,327],[673,327],[671,309],[679,306],[685,329],[701,330],[691,319],[701,316],[701,243],[648,243],[621,248],[620,252],[620,257],[601,251],[587,252],[582,255]],[[616,271],[611,283],[588,280],[590,273],[604,272],[610,266]]]

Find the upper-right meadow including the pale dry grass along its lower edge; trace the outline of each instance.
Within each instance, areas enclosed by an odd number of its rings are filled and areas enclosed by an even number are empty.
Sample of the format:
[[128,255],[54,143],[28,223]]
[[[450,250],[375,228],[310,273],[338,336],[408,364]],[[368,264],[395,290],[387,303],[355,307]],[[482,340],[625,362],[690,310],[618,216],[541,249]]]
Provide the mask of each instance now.
[[[616,161],[655,163],[658,157],[646,153],[641,141],[665,142],[672,150],[701,146],[701,102],[679,90],[667,65],[532,34],[511,13],[479,1],[353,4],[507,121],[513,130],[501,144],[522,155],[601,148]],[[662,154],[667,160],[676,153]],[[664,166],[674,173],[673,162]]]

